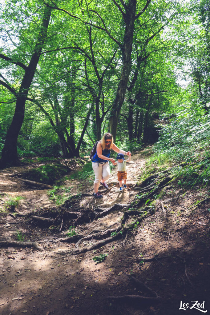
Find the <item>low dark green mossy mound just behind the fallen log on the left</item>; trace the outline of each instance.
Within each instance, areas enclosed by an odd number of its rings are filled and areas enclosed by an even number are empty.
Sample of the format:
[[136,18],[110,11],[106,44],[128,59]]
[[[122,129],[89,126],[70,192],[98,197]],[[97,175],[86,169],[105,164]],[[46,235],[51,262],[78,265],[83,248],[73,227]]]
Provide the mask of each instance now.
[[24,178],[52,185],[57,178],[65,175],[68,171],[69,169],[62,164],[46,164],[25,173]]

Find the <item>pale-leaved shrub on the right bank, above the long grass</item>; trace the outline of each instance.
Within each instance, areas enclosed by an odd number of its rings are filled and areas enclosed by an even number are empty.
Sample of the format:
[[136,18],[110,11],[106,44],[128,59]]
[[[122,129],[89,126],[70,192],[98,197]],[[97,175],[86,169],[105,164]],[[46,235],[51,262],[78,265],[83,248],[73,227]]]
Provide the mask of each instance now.
[[194,160],[197,152],[210,141],[210,114],[193,111],[190,106],[180,111],[160,133],[154,150],[158,155],[167,154],[171,161]]

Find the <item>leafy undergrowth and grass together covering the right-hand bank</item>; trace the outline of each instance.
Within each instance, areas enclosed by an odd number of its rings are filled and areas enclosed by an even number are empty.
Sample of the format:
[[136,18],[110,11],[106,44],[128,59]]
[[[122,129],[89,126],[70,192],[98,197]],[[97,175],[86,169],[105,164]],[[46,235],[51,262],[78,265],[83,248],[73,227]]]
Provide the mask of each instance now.
[[[184,108],[184,109],[183,109]],[[149,157],[141,181],[149,175],[170,168],[180,186],[205,187],[210,184],[210,114],[190,106],[180,112],[161,130]],[[180,163],[182,163],[180,165]]]

